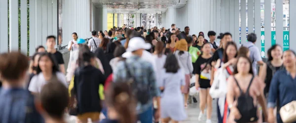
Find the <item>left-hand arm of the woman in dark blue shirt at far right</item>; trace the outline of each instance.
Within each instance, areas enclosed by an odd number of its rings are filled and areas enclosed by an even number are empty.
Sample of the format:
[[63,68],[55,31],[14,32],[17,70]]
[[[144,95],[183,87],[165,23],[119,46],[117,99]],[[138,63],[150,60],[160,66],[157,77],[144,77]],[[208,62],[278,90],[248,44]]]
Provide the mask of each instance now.
[[268,108],[268,123],[274,123],[275,118],[273,111],[275,108],[276,100],[278,99],[278,86],[279,86],[279,72],[276,72],[271,79],[268,99],[267,99],[267,108]]

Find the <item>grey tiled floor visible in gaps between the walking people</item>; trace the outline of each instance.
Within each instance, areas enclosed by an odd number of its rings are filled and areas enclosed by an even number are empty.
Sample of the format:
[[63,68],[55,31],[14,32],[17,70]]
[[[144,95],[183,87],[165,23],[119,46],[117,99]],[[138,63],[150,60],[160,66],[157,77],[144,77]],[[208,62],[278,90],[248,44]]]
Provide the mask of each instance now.
[[[200,112],[199,110],[199,101],[197,103],[193,103],[188,105],[188,108],[186,109],[188,118],[187,120],[181,122],[181,123],[206,123],[206,116],[204,115],[204,118],[202,121],[198,121],[198,114]],[[74,117],[67,117],[68,123],[75,123]],[[212,123],[218,123],[217,120],[217,100],[213,100],[213,111],[212,111]]]

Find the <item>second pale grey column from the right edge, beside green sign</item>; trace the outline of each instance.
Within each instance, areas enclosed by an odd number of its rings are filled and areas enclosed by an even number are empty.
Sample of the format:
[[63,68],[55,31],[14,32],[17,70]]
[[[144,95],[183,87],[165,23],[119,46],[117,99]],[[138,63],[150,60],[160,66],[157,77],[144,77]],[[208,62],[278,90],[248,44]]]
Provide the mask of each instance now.
[[[292,0],[290,0],[292,1]],[[283,0],[275,0],[275,36],[276,36],[276,43],[280,46],[283,46],[284,40],[284,27],[283,27]],[[290,14],[291,15],[291,14]],[[292,15],[294,16],[294,15]]]

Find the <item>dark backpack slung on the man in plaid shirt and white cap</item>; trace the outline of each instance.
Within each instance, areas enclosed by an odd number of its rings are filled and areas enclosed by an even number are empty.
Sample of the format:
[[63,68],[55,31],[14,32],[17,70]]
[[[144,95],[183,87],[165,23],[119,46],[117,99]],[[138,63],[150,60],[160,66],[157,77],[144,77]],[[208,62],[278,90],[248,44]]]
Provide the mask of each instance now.
[[126,62],[124,62],[124,65],[126,68],[126,80],[130,88],[132,89],[133,95],[141,104],[147,104],[150,100],[149,85],[145,85],[143,84],[143,82],[137,82],[137,79],[131,74],[130,68],[128,67]]

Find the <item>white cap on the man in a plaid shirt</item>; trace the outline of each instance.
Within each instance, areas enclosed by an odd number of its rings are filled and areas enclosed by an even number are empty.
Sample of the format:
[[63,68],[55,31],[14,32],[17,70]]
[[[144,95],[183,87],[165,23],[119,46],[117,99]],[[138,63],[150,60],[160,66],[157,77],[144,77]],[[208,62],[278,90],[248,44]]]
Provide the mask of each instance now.
[[148,50],[151,48],[151,44],[146,43],[145,40],[141,37],[133,37],[129,40],[128,47],[126,49],[127,52],[136,51],[139,49]]

